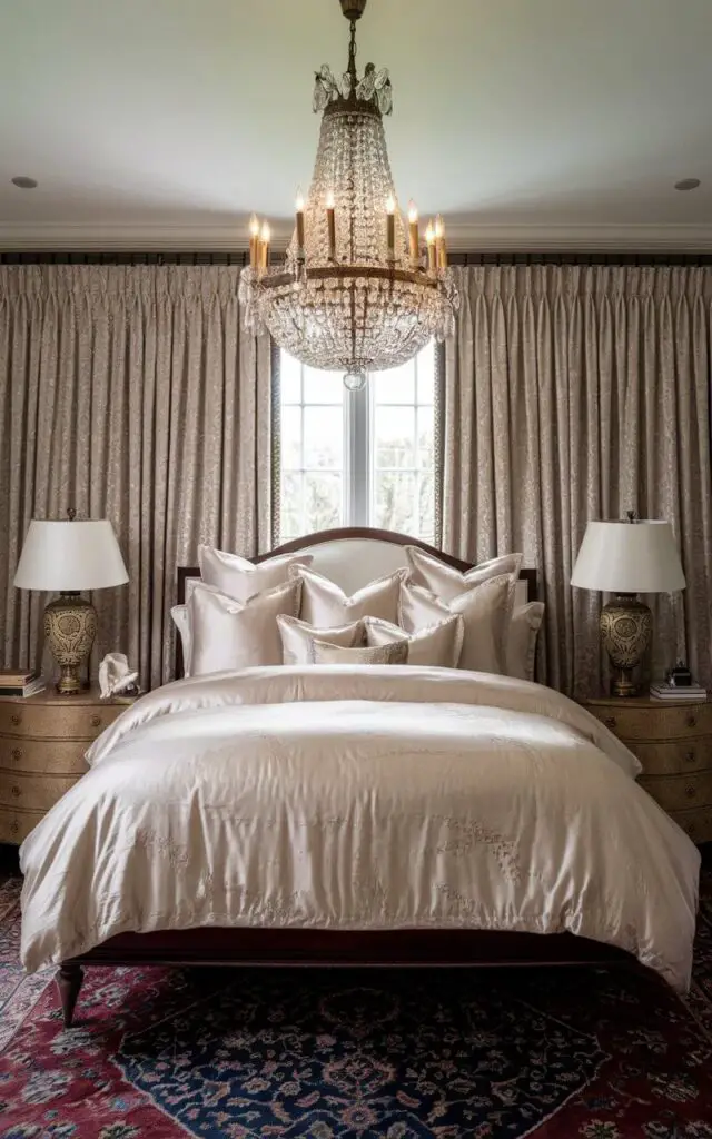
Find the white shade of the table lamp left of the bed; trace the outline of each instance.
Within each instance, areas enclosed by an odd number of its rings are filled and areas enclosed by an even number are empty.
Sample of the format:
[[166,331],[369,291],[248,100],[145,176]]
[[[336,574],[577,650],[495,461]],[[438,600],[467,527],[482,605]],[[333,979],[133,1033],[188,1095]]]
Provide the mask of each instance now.
[[15,573],[18,589],[79,592],[128,581],[116,535],[105,518],[30,523]]

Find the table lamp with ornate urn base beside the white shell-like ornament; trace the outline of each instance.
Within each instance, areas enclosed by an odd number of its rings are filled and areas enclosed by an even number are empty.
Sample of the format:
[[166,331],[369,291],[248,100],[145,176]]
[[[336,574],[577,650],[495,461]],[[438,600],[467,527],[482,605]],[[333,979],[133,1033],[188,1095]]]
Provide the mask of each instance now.
[[82,690],[81,670],[97,632],[97,611],[83,589],[108,589],[129,581],[111,522],[30,523],[15,573],[18,589],[51,590],[59,597],[44,609],[44,636],[59,665],[57,691]]

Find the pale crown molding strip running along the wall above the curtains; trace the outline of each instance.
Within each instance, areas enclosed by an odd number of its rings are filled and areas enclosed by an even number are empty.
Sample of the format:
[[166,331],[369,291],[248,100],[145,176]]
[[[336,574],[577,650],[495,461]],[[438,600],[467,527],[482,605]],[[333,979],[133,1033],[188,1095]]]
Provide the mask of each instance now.
[[[292,236],[289,223],[272,227],[279,252]],[[522,226],[448,223],[453,253],[710,253],[707,226]],[[247,248],[245,226],[63,226],[0,222],[1,252],[229,252]]]

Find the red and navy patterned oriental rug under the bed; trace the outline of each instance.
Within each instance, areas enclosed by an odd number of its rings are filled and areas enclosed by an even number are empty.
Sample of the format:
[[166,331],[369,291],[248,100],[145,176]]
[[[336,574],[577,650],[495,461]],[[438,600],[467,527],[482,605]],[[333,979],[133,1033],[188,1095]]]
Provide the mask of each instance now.
[[686,1002],[608,970],[90,969],[64,1031],[0,884],[5,1139],[712,1139],[712,875]]

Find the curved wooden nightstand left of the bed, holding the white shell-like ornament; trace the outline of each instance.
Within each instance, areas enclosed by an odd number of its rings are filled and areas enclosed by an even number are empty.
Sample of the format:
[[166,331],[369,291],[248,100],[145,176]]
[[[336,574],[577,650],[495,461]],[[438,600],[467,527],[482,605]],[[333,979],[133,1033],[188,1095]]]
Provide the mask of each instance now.
[[0,696],[0,843],[23,842],[84,775],[84,752],[125,708],[92,689]]

